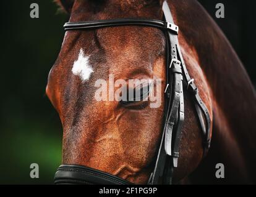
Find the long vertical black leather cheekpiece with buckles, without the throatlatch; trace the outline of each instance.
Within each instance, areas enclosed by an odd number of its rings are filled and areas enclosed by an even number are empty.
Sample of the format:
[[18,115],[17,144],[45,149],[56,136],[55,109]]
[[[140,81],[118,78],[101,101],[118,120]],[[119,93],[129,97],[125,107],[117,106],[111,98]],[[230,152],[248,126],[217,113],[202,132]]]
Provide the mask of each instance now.
[[[164,19],[169,23],[173,23],[171,11],[165,1],[163,12]],[[171,184],[173,182],[174,167],[177,167],[177,158],[179,157],[179,141],[181,139],[181,128],[184,121],[184,96],[181,61],[178,60],[177,55],[179,43],[174,36],[177,37],[177,34],[169,31],[166,35],[166,65],[168,66],[166,68],[166,71],[168,71],[166,78],[166,117],[155,169],[148,182],[149,184],[159,183],[160,177],[163,177],[163,184]]]

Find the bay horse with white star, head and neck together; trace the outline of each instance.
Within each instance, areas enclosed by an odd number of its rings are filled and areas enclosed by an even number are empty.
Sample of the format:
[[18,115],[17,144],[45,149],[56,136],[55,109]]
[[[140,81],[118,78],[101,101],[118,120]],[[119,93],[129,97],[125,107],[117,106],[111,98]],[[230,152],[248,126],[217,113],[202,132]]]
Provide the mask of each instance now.
[[[161,0],[58,0],[70,22],[111,18],[163,18]],[[256,182],[256,94],[231,44],[197,1],[169,0],[190,76],[211,118],[211,148],[203,159],[202,131],[191,95],[184,90],[185,119],[174,183]],[[145,184],[163,131],[161,106],[147,102],[96,102],[95,81],[163,79],[166,37],[145,26],[67,31],[48,77],[46,94],[63,126],[62,163]],[[215,166],[224,164],[224,179]]]

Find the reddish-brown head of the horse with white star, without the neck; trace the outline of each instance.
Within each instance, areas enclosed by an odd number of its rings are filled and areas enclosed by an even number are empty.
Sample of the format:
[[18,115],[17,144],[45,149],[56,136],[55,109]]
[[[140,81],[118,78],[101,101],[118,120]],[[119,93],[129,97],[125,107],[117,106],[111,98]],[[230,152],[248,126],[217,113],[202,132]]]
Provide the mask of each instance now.
[[[70,22],[131,17],[163,20],[163,1],[62,0],[59,4],[70,14]],[[163,134],[166,42],[166,34],[150,26],[66,31],[46,87],[63,127],[63,164],[106,172],[131,183],[148,182]],[[186,57],[189,67],[197,64],[194,57]],[[143,82],[137,86],[130,81]],[[147,99],[116,99],[116,94],[124,98],[121,85],[135,92],[134,98],[139,89],[139,95]],[[143,87],[148,91],[143,92]],[[175,182],[194,171],[203,157],[201,127],[186,89],[184,103]]]

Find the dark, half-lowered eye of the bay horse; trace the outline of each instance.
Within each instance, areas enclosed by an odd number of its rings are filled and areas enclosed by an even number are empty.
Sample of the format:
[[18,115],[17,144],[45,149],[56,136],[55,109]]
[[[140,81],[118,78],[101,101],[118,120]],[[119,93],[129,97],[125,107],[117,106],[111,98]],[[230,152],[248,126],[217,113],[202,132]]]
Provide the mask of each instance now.
[[127,89],[127,95],[121,103],[126,105],[135,102],[142,102],[148,99],[153,89],[153,83],[144,83],[136,86],[134,89]]

